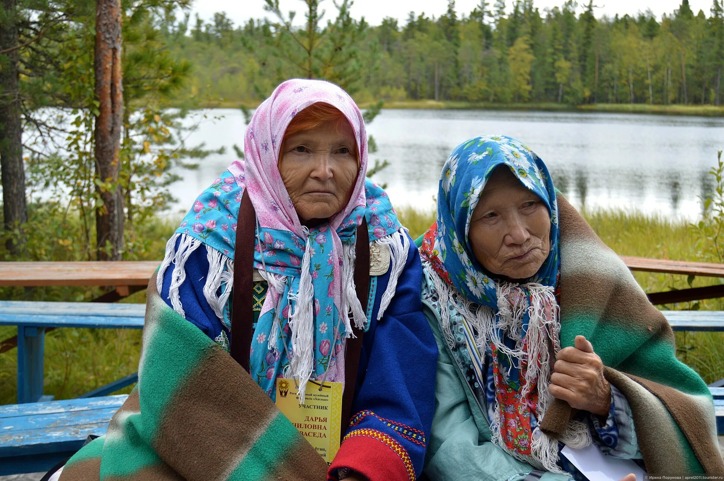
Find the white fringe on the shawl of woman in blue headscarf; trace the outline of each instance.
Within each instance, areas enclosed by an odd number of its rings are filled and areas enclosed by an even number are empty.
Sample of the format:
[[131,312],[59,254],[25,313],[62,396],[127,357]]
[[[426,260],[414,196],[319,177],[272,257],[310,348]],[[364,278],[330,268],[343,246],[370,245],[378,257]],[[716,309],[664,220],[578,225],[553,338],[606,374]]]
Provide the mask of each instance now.
[[[522,295],[517,284],[499,283],[496,286],[498,299],[498,312],[496,315],[489,307],[481,306],[476,302],[463,298],[454,287],[449,286],[440,278],[428,261],[423,260],[423,264],[430,274],[437,291],[441,312],[440,328],[450,349],[455,349],[455,338],[450,327],[448,305],[455,307],[460,312],[463,320],[473,328],[471,329],[473,331],[473,341],[481,355],[484,355],[487,346],[492,344],[500,352],[505,352],[510,357],[518,359],[518,365],[523,360],[527,362],[529,358],[536,359],[536,357],[539,357],[540,366],[531,363],[527,367],[522,393],[523,395],[529,393],[533,383],[537,381],[538,406],[536,408],[536,418],[540,424],[543,415],[553,400],[553,396],[548,391],[548,384],[550,383],[552,366],[555,362],[555,352],[560,349],[559,307],[555,302],[552,287],[534,283],[523,284],[531,293],[531,305],[528,306],[526,297]],[[547,305],[554,306],[552,312],[546,312]],[[529,313],[528,329],[525,336],[529,349],[527,354],[523,351],[522,335],[523,315],[526,310]],[[502,342],[500,331],[515,341],[513,349],[510,349]],[[493,443],[500,446],[515,459],[532,464],[539,469],[566,474],[557,466],[559,457],[557,440],[549,438],[538,429],[532,433],[532,456],[518,453],[518,451],[505,446],[505,440],[502,438],[498,423],[500,409],[501,406],[496,401],[494,406],[495,419],[491,420],[490,426]],[[484,414],[487,415],[487,413]],[[561,440],[572,448],[582,448],[592,442],[586,425],[576,420],[571,420]]]

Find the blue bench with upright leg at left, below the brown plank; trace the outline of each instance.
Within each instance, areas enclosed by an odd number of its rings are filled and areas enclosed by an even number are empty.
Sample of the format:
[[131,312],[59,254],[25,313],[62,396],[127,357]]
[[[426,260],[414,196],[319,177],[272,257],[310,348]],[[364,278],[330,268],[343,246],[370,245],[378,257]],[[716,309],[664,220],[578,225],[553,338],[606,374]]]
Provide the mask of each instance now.
[[[43,396],[46,328],[141,329],[145,313],[143,304],[0,301],[0,325],[17,325],[17,402],[52,399],[52,396]],[[103,396],[117,391],[134,383],[137,378],[133,376],[84,396]]]

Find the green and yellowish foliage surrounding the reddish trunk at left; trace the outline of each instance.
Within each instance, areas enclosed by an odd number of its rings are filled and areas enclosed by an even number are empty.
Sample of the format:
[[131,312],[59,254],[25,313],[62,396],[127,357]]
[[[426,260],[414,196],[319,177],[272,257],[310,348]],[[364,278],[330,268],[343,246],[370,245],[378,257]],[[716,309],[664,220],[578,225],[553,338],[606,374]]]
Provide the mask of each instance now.
[[[59,224],[59,231],[70,225],[78,229],[74,235],[60,239],[72,238],[80,258],[93,260],[95,215],[103,207],[96,187],[106,191],[117,188],[96,177],[93,154],[99,105],[94,92],[94,2],[41,3],[34,5],[35,9],[47,9],[36,12],[40,17],[48,17],[56,10],[61,13],[46,20],[49,27],[44,35],[21,56],[28,72],[21,78],[28,195],[36,203],[31,209],[35,217],[30,217],[27,230],[43,225],[44,219],[38,216],[77,218],[77,222]],[[146,248],[138,240],[135,224],[143,223],[174,200],[169,190],[179,179],[174,169],[193,168],[193,161],[210,153],[203,145],[189,147],[184,142],[195,129],[189,108],[198,107],[198,99],[187,97],[177,101],[180,108],[167,108],[185,89],[191,75],[190,63],[174,58],[167,48],[180,31],[180,27],[169,30],[169,25],[175,24],[171,12],[189,3],[141,0],[124,4],[122,11],[125,106],[118,182],[125,200],[126,258],[142,254]],[[21,11],[33,18],[33,10],[24,7]],[[14,239],[16,234],[3,235]],[[46,258],[42,251],[31,246],[22,259],[13,260]]]

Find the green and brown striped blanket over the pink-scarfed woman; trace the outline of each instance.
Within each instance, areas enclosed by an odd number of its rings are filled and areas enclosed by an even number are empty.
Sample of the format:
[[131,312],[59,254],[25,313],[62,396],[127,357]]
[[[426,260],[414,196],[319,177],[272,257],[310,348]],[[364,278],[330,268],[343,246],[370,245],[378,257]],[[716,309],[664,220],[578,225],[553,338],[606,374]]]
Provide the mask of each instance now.
[[148,284],[138,385],[61,481],[327,479],[327,463],[218,344]]

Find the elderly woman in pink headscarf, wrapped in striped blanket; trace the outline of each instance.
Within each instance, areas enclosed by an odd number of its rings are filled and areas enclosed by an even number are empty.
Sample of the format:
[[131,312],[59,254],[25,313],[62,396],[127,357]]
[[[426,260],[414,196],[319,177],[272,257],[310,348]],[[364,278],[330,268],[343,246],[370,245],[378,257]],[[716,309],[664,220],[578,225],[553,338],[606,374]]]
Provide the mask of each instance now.
[[[336,85],[288,80],[256,110],[244,150],[169,239],[138,386],[62,480],[421,473],[437,346],[418,250],[365,176],[361,112]],[[329,412],[292,424],[274,405],[298,386],[306,406],[324,383],[344,386]],[[314,430],[338,439],[336,456]]]

